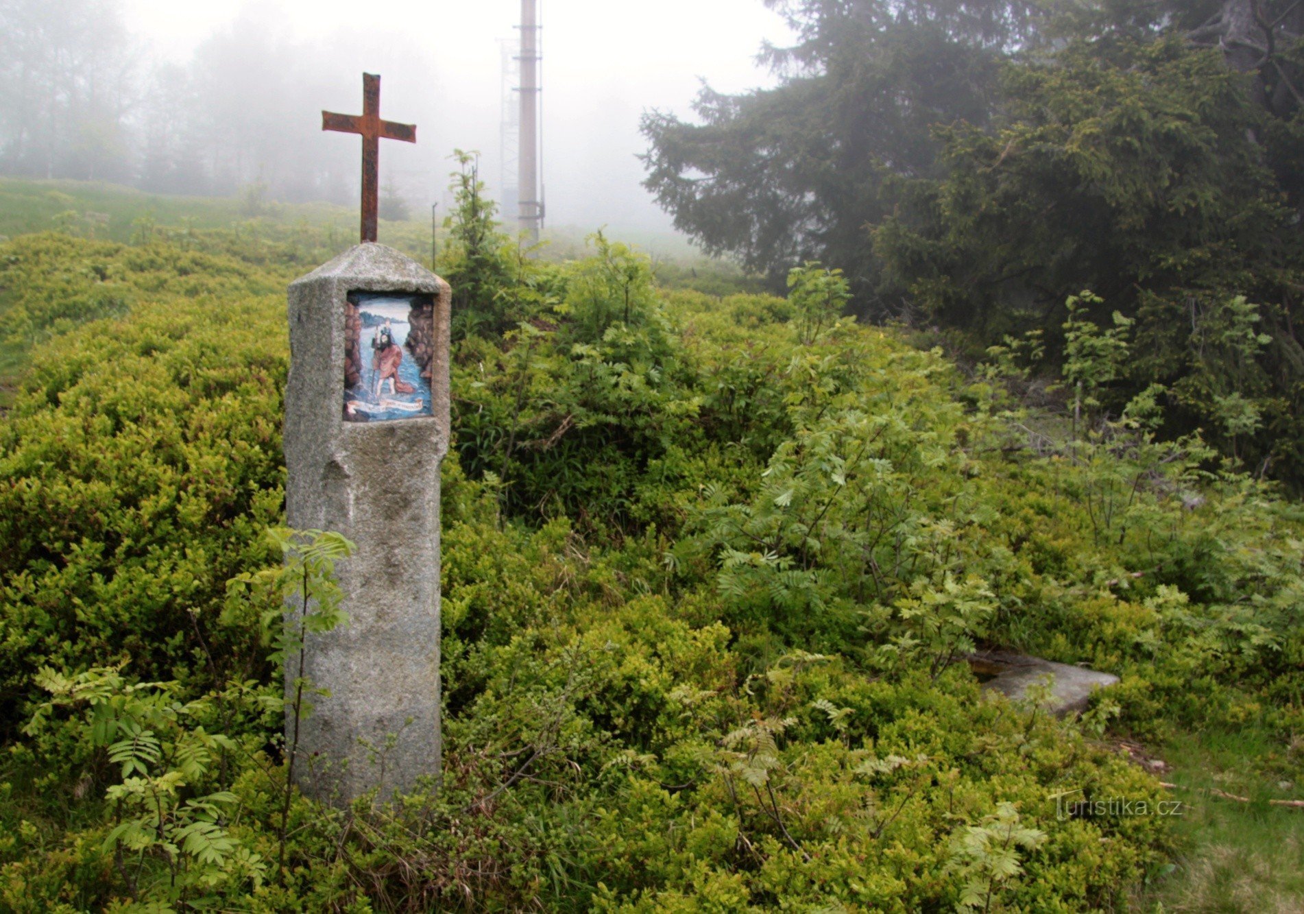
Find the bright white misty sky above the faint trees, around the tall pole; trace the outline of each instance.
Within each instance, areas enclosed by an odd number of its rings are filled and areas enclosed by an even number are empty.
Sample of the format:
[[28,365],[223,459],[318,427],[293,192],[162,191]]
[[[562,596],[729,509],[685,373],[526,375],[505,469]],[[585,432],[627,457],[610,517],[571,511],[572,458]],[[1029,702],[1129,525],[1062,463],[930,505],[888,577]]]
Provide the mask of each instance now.
[[[499,39],[515,40],[519,9],[519,0],[126,0],[132,31],[177,63],[231,30],[319,48],[317,63],[329,76],[321,85],[330,86],[322,108],[359,113],[361,72],[379,73],[382,115],[416,121],[420,140],[416,147],[382,143],[382,180],[393,176],[413,203],[442,206],[455,146],[479,150],[482,177],[498,185]],[[584,229],[669,228],[639,186],[639,115],[653,107],[689,115],[698,77],[725,91],[772,85],[754,57],[763,40],[789,37],[762,0],[540,0],[540,14],[549,224]],[[317,110],[303,117],[300,128],[319,125]],[[359,142],[340,134],[316,141]]]

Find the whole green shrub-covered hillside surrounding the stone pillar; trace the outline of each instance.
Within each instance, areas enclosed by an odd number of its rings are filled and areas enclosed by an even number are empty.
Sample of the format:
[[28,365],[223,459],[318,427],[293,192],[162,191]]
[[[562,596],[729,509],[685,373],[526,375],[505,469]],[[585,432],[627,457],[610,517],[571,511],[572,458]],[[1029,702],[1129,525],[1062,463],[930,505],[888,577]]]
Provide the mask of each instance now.
[[[840,318],[836,273],[659,288],[602,236],[473,250],[462,203],[445,780],[344,812],[287,794],[266,535],[333,216],[0,229],[0,906],[1299,907],[1296,502]],[[1059,720],[975,647],[1121,682]]]

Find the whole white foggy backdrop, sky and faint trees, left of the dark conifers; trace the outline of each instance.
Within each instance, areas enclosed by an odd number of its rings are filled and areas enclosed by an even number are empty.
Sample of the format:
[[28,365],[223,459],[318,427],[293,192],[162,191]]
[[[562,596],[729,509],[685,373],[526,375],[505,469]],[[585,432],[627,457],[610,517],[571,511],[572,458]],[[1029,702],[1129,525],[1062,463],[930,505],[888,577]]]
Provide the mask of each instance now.
[[[346,203],[360,141],[323,133],[321,110],[360,113],[365,70],[382,116],[417,124],[416,146],[382,142],[391,214],[449,203],[454,149],[480,151],[498,197],[518,16],[518,0],[0,0],[0,171]],[[549,224],[669,229],[640,186],[642,112],[686,113],[699,78],[773,85],[755,55],[782,21],[762,0],[541,0],[540,16]]]

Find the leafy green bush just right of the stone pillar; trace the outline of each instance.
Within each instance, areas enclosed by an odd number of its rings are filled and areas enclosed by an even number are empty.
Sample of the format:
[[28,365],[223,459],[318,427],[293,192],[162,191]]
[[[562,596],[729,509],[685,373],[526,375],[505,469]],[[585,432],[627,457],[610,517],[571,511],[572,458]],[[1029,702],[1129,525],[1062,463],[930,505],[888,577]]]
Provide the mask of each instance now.
[[596,253],[545,299],[548,317],[522,322],[505,346],[459,347],[454,411],[463,465],[473,479],[493,473],[509,510],[622,528],[651,518],[639,477],[689,433],[698,404],[678,387],[681,353],[647,259],[592,240]]

